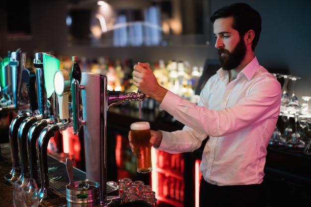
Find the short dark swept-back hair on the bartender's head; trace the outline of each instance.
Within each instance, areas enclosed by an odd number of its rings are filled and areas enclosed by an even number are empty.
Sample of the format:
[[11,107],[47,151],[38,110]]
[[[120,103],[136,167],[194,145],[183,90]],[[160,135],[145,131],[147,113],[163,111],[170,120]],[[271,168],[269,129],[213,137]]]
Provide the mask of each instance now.
[[243,37],[248,30],[254,30],[255,37],[251,46],[254,51],[261,32],[261,17],[259,12],[246,3],[233,3],[218,9],[211,16],[211,21],[214,23],[218,18],[230,16],[233,16],[232,28],[238,31],[240,37]]

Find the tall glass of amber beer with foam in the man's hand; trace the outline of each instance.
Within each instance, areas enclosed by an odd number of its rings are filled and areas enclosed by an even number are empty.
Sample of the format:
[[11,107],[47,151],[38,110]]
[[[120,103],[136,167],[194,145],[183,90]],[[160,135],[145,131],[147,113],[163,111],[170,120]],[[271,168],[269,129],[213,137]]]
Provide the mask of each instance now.
[[135,122],[131,124],[131,136],[135,148],[137,172],[150,173],[152,164],[149,122]]

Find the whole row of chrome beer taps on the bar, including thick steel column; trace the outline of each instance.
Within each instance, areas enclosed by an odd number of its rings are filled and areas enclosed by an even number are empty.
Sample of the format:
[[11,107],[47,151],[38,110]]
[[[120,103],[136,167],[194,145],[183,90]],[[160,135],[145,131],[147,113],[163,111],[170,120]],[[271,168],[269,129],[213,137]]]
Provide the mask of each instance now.
[[25,68],[25,60],[21,49],[0,60],[0,116],[17,114],[9,125],[12,169],[5,179],[33,178],[40,203],[58,199],[61,195],[49,185],[48,143],[56,133],[73,127],[84,139],[86,179],[99,183],[100,203],[107,206],[107,111],[125,101],[143,101],[145,94],[109,91],[107,77],[100,74],[71,77],[51,52],[36,53],[33,67]]

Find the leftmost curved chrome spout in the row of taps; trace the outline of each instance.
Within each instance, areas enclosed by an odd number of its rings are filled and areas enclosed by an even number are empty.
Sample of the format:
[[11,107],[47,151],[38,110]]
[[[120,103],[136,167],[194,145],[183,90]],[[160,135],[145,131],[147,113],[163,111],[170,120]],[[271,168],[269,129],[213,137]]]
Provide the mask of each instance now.
[[16,117],[14,117],[9,126],[9,141],[11,147],[12,169],[8,174],[4,175],[4,178],[10,182],[17,180],[21,173],[21,166],[18,155],[18,129],[22,121],[27,117],[29,117],[29,115],[25,113],[19,114]]

